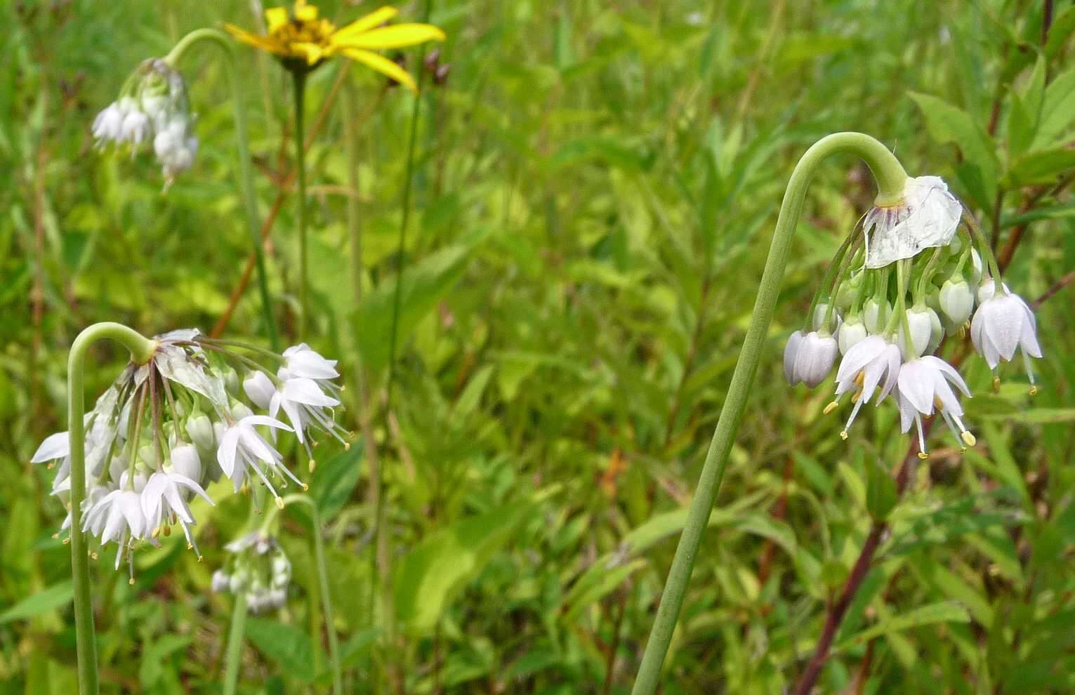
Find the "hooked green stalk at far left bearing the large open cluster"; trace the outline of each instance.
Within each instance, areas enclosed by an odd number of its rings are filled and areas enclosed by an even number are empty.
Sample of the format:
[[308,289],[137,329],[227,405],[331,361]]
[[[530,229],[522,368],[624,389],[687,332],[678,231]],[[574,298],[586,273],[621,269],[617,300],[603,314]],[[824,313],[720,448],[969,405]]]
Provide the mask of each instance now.
[[83,367],[86,352],[98,341],[123,345],[131,360],[143,364],[157,349],[157,342],[143,337],[120,323],[94,323],[78,334],[68,356],[68,436],[71,443],[71,579],[74,582],[74,631],[78,656],[78,692],[98,692],[97,642],[94,634],[94,605],[89,594],[89,561],[82,531],[82,503],[86,498],[86,411]]

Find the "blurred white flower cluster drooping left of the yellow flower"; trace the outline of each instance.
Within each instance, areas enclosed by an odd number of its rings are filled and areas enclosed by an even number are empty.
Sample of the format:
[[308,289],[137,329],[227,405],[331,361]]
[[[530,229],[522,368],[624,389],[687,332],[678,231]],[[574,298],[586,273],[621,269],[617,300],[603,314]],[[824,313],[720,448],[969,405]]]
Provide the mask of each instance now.
[[[167,184],[190,169],[198,154],[183,75],[159,58],[144,61],[124,87],[118,100],[94,119],[99,147],[129,145],[137,153],[152,143]],[[166,184],[166,185],[167,185]]]

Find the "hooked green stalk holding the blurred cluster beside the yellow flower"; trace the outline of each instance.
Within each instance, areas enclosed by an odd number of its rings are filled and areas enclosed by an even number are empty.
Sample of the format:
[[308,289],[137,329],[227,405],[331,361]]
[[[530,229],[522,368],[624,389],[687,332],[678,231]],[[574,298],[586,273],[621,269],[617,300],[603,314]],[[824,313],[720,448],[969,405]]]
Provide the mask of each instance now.
[[228,86],[231,88],[231,100],[235,118],[235,149],[239,154],[239,179],[243,189],[243,203],[246,213],[246,226],[254,245],[254,260],[258,271],[258,292],[261,294],[261,314],[269,334],[269,345],[273,351],[280,351],[280,335],[276,331],[276,319],[272,308],[272,298],[269,294],[269,277],[266,274],[264,251],[261,249],[261,221],[258,217],[258,199],[254,188],[254,168],[250,165],[250,151],[247,145],[246,104],[243,99],[242,81],[235,66],[235,54],[231,40],[219,29],[197,29],[180,40],[171,53],[164,58],[170,66],[175,66],[186,55],[191,46],[200,41],[207,41],[220,48],[224,54],[225,71],[228,73]]

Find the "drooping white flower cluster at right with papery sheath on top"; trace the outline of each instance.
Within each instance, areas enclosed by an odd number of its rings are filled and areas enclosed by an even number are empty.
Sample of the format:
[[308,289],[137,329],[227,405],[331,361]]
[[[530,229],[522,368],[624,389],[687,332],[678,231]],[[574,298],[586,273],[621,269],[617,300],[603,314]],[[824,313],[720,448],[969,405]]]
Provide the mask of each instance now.
[[935,414],[960,448],[974,446],[959,400],[960,393],[970,397],[970,389],[955,367],[933,354],[946,337],[965,335],[968,328],[994,372],[994,387],[998,365],[1021,350],[1030,392],[1036,392],[1030,358],[1041,358],[1042,351],[1034,314],[1006,285],[998,289],[1000,271],[991,251],[971,222],[959,233],[961,219],[961,204],[944,182],[908,179],[905,200],[872,209],[862,234],[852,232],[851,243],[834,259],[837,272],[815,300],[813,330],[796,331],[788,339],[784,374],[791,385],[818,386],[843,356],[836,399],[825,409],[831,412],[850,394],[854,405],[842,437],[847,438],[863,404],[873,399],[879,406],[890,399],[903,432],[917,426],[919,458],[928,458],[922,418]]

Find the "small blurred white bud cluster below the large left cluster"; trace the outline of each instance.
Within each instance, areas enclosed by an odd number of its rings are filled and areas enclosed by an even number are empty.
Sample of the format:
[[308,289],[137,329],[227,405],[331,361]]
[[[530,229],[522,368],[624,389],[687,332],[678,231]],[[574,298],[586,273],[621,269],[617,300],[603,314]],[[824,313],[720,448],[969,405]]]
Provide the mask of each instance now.
[[275,538],[255,531],[225,549],[231,556],[224,569],[213,573],[214,592],[244,594],[246,608],[253,613],[284,605],[291,582],[291,563]]

